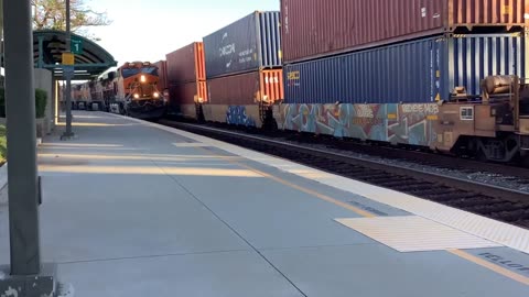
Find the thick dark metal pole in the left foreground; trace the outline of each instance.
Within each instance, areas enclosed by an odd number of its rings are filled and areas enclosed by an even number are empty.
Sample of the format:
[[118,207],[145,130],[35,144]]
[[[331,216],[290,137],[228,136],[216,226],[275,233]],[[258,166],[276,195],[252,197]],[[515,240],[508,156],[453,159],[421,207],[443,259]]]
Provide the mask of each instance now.
[[41,271],[30,0],[6,1],[6,111],[11,274]]

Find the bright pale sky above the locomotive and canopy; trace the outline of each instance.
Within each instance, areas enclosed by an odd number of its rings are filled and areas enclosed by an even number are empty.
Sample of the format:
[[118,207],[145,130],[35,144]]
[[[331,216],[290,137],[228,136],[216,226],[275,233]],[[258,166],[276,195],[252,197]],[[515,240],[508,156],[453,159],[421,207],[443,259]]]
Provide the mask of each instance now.
[[106,11],[109,26],[91,29],[119,64],[165,59],[165,54],[252,11],[279,11],[280,0],[85,0]]

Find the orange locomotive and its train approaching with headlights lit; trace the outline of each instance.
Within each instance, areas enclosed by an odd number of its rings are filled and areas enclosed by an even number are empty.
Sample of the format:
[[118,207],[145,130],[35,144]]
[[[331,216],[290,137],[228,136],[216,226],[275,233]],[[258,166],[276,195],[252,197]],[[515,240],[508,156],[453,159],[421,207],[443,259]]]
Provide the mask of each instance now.
[[[159,67],[149,62],[125,63],[116,72],[101,76],[96,81],[76,85],[74,101],[97,102],[106,111],[138,119],[155,120],[166,112],[166,90],[160,89]],[[100,108],[99,108],[100,109]]]

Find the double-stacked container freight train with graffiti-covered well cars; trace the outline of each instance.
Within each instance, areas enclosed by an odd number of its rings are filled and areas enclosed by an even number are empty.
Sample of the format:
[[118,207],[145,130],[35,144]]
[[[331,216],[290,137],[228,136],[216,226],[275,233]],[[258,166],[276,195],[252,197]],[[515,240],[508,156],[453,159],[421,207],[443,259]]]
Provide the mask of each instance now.
[[172,113],[529,163],[529,2],[380,2],[282,0],[168,54]]

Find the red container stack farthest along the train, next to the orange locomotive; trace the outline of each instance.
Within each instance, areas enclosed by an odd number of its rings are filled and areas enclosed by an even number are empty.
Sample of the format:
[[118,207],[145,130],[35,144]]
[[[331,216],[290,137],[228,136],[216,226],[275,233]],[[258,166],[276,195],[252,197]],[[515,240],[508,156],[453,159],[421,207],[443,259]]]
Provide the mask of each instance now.
[[170,112],[196,118],[197,103],[207,101],[204,45],[195,42],[165,55]]

